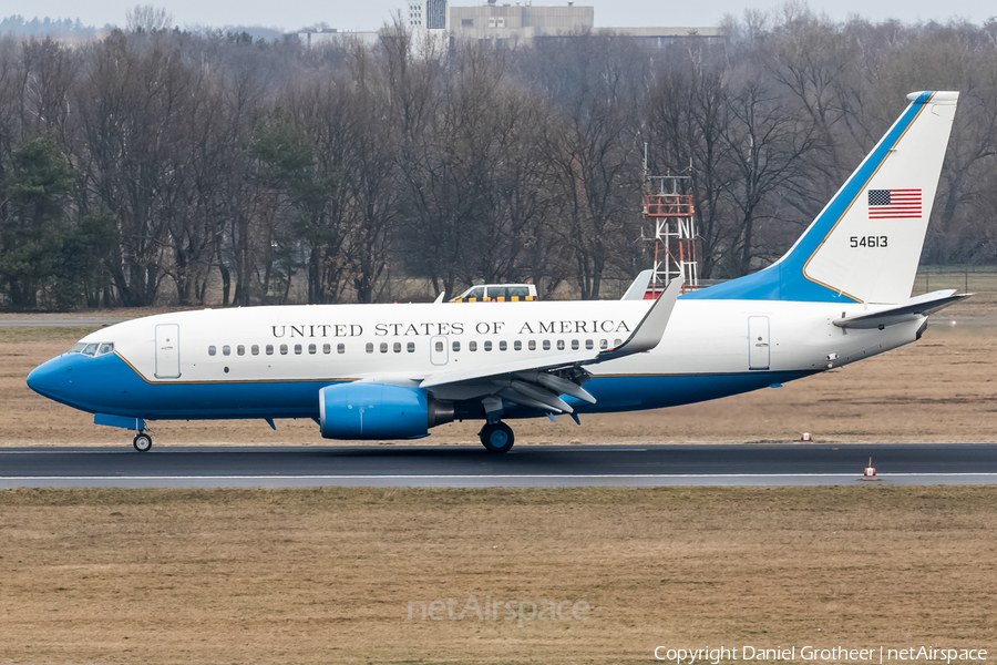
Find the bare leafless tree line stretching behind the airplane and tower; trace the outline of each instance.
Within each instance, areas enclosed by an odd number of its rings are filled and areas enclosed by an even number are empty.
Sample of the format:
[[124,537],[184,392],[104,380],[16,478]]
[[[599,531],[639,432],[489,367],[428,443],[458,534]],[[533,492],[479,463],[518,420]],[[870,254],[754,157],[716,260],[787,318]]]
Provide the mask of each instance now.
[[924,257],[997,259],[997,23],[787,6],[726,28],[659,50],[442,49],[398,27],[318,49],[0,39],[0,303],[371,303],[403,278],[598,298],[649,266],[645,144],[650,173],[690,176],[702,276],[736,277],[795,241],[915,90],[962,91]]

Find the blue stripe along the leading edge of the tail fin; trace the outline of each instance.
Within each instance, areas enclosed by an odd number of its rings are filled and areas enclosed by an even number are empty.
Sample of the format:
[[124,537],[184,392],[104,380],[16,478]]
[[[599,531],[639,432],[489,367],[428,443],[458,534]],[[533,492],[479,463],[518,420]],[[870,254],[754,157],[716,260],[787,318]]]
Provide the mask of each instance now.
[[862,193],[865,184],[878,170],[891,149],[924,109],[932,93],[921,94],[894,123],[882,141],[868,154],[862,165],[852,174],[837,195],[813,224],[790,249],[789,254],[771,266],[732,279],[717,286],[681,296],[700,300],[798,300],[808,303],[854,303],[855,299],[813,282],[803,274],[803,268],[814,252],[821,246],[837,221],[853,201]]

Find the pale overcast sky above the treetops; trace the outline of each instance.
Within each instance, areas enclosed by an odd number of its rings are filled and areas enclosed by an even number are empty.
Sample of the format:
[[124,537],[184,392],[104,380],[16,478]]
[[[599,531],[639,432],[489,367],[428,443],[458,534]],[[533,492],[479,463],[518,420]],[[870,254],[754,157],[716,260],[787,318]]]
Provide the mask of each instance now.
[[[506,0],[498,0],[500,3]],[[245,0],[141,0],[165,7],[173,12],[174,21],[181,27],[207,24],[223,27],[232,24],[265,25],[295,30],[305,25],[326,22],[341,30],[373,30],[402,8],[401,0],[297,0],[292,2],[246,2]],[[561,4],[536,0],[534,4]],[[34,17],[53,19],[76,19],[89,25],[104,23],[124,25],[125,12],[136,4],[135,0],[107,1],[89,0],[2,0],[0,18],[21,14],[27,20]],[[453,4],[477,4],[469,0],[458,0]],[[626,25],[716,25],[724,13],[740,14],[746,7],[770,9],[778,2],[746,0],[712,0],[707,2],[664,2],[662,0],[578,0],[577,4],[595,7],[595,24],[600,27]],[[947,21],[952,18],[983,22],[997,13],[997,7],[983,0],[818,0],[810,2],[815,11],[828,13],[832,19],[844,20],[859,13],[872,20],[888,18],[904,22],[927,20]]]

